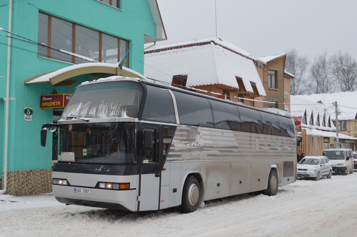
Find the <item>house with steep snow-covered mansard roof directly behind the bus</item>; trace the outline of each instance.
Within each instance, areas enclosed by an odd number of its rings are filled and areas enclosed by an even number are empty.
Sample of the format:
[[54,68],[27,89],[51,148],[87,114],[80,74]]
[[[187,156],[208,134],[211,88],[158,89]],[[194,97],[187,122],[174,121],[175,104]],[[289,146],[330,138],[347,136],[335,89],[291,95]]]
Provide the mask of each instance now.
[[255,107],[266,98],[262,62],[221,38],[147,49],[144,60],[146,77],[172,86]]

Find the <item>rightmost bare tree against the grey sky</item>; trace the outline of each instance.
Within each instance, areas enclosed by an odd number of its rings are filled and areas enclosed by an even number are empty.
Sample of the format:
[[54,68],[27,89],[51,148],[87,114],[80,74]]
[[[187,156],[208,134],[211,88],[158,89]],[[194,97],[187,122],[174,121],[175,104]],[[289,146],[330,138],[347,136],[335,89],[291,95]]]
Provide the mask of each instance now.
[[339,51],[331,57],[331,72],[342,91],[354,91],[357,87],[357,62],[350,53]]

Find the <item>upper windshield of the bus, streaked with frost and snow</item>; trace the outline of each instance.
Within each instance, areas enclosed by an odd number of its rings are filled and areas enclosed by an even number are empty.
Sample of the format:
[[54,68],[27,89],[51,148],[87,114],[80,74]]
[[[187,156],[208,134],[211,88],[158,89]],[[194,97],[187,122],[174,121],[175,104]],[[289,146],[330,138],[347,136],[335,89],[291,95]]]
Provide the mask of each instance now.
[[141,97],[142,88],[133,82],[115,81],[79,86],[66,105],[62,119],[136,118]]

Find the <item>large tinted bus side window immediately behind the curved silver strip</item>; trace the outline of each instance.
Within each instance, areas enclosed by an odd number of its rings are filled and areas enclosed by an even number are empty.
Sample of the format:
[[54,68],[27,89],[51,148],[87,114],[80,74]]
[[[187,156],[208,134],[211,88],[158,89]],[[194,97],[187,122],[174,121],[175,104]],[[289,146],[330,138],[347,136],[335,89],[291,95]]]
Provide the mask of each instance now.
[[172,91],[175,95],[180,124],[214,127],[212,108],[207,98]]

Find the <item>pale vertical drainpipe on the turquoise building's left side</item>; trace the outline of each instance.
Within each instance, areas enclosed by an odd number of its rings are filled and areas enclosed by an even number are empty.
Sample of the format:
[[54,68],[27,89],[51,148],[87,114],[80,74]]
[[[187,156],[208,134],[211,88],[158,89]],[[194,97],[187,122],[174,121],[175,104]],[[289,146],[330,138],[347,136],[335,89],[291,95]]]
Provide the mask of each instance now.
[[[12,0],[9,4],[9,29],[11,32],[11,19],[12,19]],[[9,33],[9,36],[11,34]],[[6,192],[7,187],[7,141],[9,135],[9,94],[10,94],[10,56],[11,56],[11,38],[7,39],[7,78],[6,78],[6,115],[5,115],[5,159],[4,159],[4,189],[0,190],[0,194]]]

